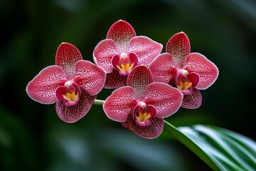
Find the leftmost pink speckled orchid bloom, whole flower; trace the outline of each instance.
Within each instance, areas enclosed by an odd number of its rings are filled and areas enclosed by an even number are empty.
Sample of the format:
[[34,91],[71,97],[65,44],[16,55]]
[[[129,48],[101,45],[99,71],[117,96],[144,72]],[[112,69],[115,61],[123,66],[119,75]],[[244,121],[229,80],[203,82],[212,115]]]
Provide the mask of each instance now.
[[70,43],[61,43],[55,56],[55,66],[48,66],[38,73],[28,83],[26,92],[39,103],[56,102],[58,117],[74,123],[90,110],[105,79],[105,71],[90,61],[82,60],[78,48]]

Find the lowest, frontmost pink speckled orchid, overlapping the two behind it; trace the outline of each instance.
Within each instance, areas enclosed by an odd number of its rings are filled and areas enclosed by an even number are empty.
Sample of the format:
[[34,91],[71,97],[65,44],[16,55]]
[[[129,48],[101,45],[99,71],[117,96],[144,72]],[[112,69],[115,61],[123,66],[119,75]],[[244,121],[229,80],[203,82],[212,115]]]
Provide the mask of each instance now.
[[153,82],[146,66],[136,66],[127,86],[117,88],[103,104],[108,118],[121,122],[142,138],[156,138],[164,128],[164,119],[176,113],[183,94],[166,83]]

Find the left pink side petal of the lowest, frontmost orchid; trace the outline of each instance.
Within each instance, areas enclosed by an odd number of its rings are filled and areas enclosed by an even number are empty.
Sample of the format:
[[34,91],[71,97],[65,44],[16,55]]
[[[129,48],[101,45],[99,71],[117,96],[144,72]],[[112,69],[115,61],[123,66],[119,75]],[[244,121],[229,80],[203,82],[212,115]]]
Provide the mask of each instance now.
[[137,104],[134,103],[132,87],[125,86],[112,92],[105,100],[103,110],[108,118],[118,122],[124,122],[135,105]]

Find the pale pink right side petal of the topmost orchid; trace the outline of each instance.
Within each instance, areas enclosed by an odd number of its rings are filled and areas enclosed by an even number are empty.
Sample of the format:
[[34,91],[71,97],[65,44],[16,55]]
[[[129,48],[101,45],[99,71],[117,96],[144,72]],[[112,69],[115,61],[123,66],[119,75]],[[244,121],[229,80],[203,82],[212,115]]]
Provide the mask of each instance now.
[[151,61],[161,53],[163,46],[161,43],[152,41],[146,36],[133,37],[129,43],[129,51],[136,53],[139,64],[149,65]]

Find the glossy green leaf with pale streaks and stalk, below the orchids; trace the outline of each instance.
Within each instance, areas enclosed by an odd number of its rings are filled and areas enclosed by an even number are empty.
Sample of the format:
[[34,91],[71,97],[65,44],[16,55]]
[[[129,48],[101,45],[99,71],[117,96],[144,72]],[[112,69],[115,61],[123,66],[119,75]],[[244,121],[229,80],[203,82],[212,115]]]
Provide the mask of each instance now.
[[165,130],[191,149],[213,170],[255,170],[256,142],[223,128],[193,125]]

